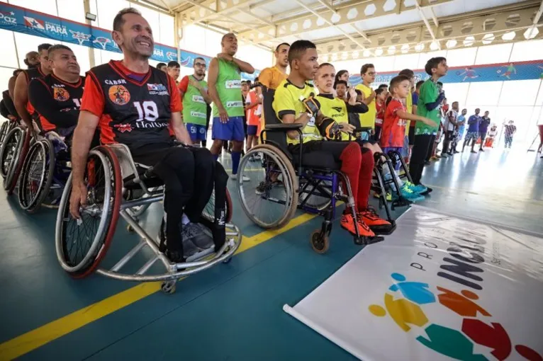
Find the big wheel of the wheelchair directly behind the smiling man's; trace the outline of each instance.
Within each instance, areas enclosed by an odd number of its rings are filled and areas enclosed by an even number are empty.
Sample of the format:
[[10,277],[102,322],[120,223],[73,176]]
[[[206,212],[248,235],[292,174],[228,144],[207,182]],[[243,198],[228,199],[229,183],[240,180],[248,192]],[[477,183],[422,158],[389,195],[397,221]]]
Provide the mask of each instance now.
[[47,140],[35,142],[28,150],[19,179],[18,198],[23,210],[34,213],[49,193],[55,171],[55,151]]

